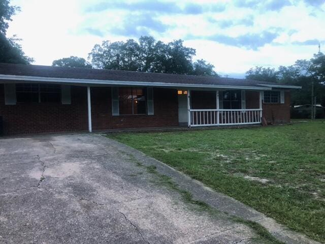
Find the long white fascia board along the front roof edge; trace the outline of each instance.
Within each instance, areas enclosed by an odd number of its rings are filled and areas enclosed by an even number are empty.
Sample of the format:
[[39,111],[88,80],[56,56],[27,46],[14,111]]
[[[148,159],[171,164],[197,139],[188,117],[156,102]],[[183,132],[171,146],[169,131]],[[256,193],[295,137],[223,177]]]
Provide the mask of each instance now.
[[94,80],[94,79],[74,79],[74,78],[55,78],[55,77],[39,77],[24,75],[2,75],[0,80],[21,80],[34,82],[52,82],[52,83],[68,83],[82,85],[132,85],[132,86],[150,86],[150,87],[187,87],[187,88],[220,88],[220,89],[250,89],[250,90],[271,90],[270,87],[245,86],[245,85],[206,85],[206,84],[190,84],[190,83],[167,83],[167,82],[145,82],[145,81],[121,81],[121,80]]

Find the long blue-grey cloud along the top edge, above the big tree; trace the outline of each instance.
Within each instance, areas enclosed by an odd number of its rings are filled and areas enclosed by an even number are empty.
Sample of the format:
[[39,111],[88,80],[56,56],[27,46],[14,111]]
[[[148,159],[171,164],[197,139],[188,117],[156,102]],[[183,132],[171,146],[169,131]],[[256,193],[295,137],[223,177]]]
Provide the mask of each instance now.
[[139,2],[110,2],[103,1],[86,8],[85,12],[102,12],[106,10],[122,9],[126,11],[148,11],[167,14],[203,14],[204,12],[222,12],[225,10],[223,4],[194,4],[187,3],[182,8],[177,2],[163,2],[141,0]]

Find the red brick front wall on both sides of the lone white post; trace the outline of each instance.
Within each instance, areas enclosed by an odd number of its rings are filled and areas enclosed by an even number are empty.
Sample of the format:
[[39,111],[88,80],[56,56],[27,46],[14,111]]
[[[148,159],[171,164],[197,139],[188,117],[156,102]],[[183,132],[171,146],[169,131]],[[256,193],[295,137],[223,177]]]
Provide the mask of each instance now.
[[[178,100],[175,89],[154,88],[154,115],[112,116],[111,89],[91,88],[92,128],[136,128],[178,125]],[[86,131],[87,88],[71,87],[71,105],[25,103],[5,105],[4,85],[0,84],[0,116],[6,135]]]

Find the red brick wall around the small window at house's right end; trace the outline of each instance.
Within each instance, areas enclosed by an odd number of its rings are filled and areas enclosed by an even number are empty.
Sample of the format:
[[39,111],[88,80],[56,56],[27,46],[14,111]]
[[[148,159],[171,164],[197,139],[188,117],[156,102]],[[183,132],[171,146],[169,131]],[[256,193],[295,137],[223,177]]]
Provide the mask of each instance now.
[[263,117],[272,124],[290,122],[290,92],[284,93],[284,103],[263,103]]

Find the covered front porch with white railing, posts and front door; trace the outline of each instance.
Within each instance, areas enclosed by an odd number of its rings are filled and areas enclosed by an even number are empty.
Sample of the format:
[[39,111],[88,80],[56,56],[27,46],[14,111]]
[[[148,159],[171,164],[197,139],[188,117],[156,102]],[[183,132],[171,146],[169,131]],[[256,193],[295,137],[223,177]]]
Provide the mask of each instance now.
[[262,123],[263,91],[178,90],[179,123],[188,127]]

